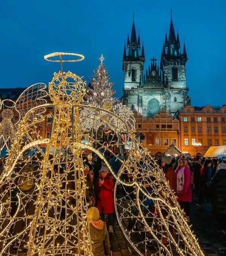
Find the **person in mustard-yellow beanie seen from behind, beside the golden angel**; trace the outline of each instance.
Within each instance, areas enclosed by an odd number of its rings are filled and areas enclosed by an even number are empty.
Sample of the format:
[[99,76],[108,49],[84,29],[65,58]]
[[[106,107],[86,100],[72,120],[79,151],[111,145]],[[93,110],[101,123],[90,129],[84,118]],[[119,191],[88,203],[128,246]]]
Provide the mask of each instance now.
[[89,208],[87,215],[93,256],[110,255],[110,241],[107,226],[106,223],[100,219],[98,208]]

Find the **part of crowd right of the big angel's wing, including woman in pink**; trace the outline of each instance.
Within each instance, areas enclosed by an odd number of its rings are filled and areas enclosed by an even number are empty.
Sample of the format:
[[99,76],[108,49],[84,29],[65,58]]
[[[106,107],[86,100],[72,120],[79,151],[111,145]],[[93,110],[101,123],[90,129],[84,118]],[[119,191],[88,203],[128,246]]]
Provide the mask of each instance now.
[[[226,233],[226,158],[195,158],[164,156],[158,159],[171,189],[189,221],[192,195],[198,197],[197,207],[211,202],[218,222],[218,232]],[[175,174],[174,174],[175,172]]]

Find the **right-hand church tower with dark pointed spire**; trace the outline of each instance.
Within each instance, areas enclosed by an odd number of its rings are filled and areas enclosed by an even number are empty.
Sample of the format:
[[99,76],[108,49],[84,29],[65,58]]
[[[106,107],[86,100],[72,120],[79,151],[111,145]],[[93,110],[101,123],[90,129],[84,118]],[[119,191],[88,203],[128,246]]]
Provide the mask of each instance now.
[[160,69],[162,70],[162,80],[164,87],[170,88],[185,88],[185,64],[188,60],[186,48],[184,44],[183,53],[180,52],[179,33],[177,37],[174,31],[172,11],[169,37],[165,35],[165,42],[163,43],[163,50],[161,56]]

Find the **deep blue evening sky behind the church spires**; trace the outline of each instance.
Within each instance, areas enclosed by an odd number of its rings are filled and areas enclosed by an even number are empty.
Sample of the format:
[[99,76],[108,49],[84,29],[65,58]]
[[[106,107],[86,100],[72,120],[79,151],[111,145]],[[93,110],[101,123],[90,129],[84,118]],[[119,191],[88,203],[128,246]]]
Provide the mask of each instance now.
[[104,64],[117,96],[122,96],[122,55],[133,11],[136,31],[145,46],[145,69],[150,58],[160,61],[165,29],[173,9],[174,29],[185,38],[187,86],[192,106],[226,104],[225,0],[5,0],[0,8],[0,88],[27,87],[48,82],[58,63],[43,56],[76,52],[84,61],[64,64],[84,80],[104,55]]

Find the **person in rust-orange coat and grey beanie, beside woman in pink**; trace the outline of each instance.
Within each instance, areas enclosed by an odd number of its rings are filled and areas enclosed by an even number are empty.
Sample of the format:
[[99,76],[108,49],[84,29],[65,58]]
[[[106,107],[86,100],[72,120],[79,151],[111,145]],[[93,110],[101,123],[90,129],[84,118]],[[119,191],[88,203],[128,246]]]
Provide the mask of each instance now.
[[171,156],[164,156],[162,158],[162,170],[165,174],[166,180],[169,182],[169,185],[172,190],[176,192],[177,190],[177,176],[174,171],[173,165],[171,164]]

